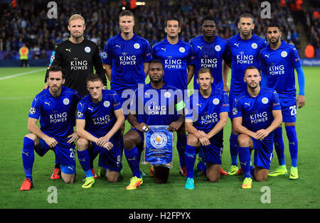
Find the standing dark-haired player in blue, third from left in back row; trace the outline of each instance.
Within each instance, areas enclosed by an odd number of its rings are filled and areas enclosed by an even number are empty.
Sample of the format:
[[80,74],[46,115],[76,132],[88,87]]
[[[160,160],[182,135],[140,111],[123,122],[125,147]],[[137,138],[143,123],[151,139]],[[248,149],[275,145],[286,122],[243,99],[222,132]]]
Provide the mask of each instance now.
[[[175,17],[166,18],[164,27],[166,38],[152,47],[152,58],[160,60],[164,65],[164,82],[183,92],[188,89],[188,83],[193,77],[194,61],[192,46],[179,38],[181,27]],[[186,93],[184,93],[186,94]],[[187,97],[187,95],[186,95]],[[180,173],[186,176],[184,150],[186,148],[186,131],[183,127],[177,132],[176,147],[180,161]]]

